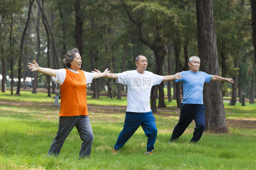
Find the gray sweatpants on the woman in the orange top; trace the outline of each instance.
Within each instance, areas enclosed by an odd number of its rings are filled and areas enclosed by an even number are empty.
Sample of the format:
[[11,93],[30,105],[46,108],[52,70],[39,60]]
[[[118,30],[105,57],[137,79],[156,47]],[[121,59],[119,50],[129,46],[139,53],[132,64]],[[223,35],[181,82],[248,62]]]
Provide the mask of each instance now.
[[91,146],[93,143],[93,130],[90,124],[89,116],[61,116],[59,118],[59,128],[57,135],[51,143],[48,155],[60,154],[60,150],[68,137],[69,133],[76,126],[80,139],[83,141],[79,157],[90,157]]

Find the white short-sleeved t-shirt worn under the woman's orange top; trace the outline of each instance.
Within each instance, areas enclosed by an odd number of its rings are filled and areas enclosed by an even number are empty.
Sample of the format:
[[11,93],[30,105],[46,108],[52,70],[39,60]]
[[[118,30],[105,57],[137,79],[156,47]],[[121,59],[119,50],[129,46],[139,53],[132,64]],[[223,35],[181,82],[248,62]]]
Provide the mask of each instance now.
[[[79,72],[76,72],[74,70],[68,69],[69,71],[73,72],[73,73],[77,73],[79,74]],[[62,83],[65,81],[66,78],[66,69],[57,69],[56,71],[56,77],[51,76],[52,81],[59,83],[60,85],[62,85]],[[86,84],[91,83],[94,77],[93,73],[90,72],[85,72],[83,71],[85,74],[85,78],[86,78]]]

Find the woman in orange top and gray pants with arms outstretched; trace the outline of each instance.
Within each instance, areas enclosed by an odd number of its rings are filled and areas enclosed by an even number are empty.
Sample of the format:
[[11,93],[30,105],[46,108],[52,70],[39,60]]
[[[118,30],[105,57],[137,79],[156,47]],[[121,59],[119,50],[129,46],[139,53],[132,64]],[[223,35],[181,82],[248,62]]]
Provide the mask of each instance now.
[[58,156],[65,139],[76,126],[80,139],[83,141],[79,158],[90,157],[93,131],[88,116],[86,87],[93,79],[111,76],[112,73],[108,69],[103,73],[79,70],[81,69],[82,58],[77,48],[69,50],[63,59],[68,69],[42,68],[35,61],[33,62],[34,64],[29,63],[28,65],[31,71],[48,74],[52,76],[53,81],[60,84],[59,127],[47,155]]

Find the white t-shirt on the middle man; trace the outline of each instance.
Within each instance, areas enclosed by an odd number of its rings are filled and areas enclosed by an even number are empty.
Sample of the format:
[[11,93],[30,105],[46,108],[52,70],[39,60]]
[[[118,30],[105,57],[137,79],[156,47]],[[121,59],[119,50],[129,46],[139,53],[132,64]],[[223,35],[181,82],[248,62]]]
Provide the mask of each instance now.
[[163,76],[145,71],[144,74],[136,70],[117,74],[116,82],[127,85],[127,112],[146,113],[150,108],[150,92],[153,85],[159,85]]

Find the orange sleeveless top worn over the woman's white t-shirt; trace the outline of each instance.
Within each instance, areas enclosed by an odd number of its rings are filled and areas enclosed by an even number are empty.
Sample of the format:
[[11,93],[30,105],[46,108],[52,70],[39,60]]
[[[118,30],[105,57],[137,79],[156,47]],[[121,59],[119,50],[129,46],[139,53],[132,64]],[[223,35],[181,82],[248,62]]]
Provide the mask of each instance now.
[[88,115],[86,78],[83,71],[78,72],[66,69],[65,81],[60,85],[60,116]]

